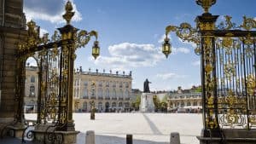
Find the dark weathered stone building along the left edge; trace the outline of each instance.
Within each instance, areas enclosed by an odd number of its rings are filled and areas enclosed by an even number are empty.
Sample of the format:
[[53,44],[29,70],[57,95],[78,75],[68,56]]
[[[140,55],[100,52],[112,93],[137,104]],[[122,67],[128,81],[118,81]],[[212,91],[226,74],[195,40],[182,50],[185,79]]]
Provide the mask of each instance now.
[[13,122],[19,101],[15,101],[17,43],[26,36],[23,1],[0,1],[0,123]]

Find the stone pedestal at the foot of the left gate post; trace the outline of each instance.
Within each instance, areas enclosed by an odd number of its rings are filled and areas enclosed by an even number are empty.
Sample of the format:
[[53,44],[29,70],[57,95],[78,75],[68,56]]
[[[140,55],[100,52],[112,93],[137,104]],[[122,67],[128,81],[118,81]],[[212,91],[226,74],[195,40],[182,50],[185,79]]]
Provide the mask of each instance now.
[[[32,130],[34,134],[33,141],[46,144],[74,144],[77,142],[77,135],[79,131],[58,131],[55,130],[55,126],[52,124],[38,124],[35,126],[35,130]],[[52,137],[55,135],[55,142],[52,141]]]

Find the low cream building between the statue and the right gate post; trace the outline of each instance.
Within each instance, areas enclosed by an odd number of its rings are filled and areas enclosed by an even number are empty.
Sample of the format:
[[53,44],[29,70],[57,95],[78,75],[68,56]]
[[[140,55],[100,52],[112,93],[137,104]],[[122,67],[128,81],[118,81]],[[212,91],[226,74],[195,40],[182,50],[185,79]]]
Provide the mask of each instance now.
[[167,99],[167,109],[172,112],[201,112],[201,92],[192,89],[181,89],[171,91]]

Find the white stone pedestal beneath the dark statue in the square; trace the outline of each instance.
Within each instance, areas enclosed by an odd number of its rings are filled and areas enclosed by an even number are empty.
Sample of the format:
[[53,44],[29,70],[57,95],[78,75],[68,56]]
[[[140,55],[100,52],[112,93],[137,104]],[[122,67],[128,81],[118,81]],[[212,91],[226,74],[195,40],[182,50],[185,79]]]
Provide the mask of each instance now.
[[141,95],[140,112],[154,112],[154,101],[151,93],[143,93]]

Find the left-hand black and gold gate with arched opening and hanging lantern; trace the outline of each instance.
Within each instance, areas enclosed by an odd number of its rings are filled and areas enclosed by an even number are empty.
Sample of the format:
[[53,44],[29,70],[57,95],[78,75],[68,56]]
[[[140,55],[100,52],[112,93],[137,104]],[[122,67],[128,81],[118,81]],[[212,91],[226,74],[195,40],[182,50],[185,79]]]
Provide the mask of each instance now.
[[[38,62],[38,118],[37,124],[52,124],[55,130],[73,131],[73,61],[75,50],[84,47],[90,37],[96,37],[92,55],[99,55],[97,32],[86,32],[70,25],[73,7],[68,1],[63,18],[67,25],[58,28],[49,39],[48,34],[39,37],[35,22],[27,23],[28,33],[19,43],[17,54],[18,75],[16,101],[19,103],[16,120],[23,123],[23,97],[25,95],[26,60],[33,56]],[[60,33],[60,34],[59,34]]]

